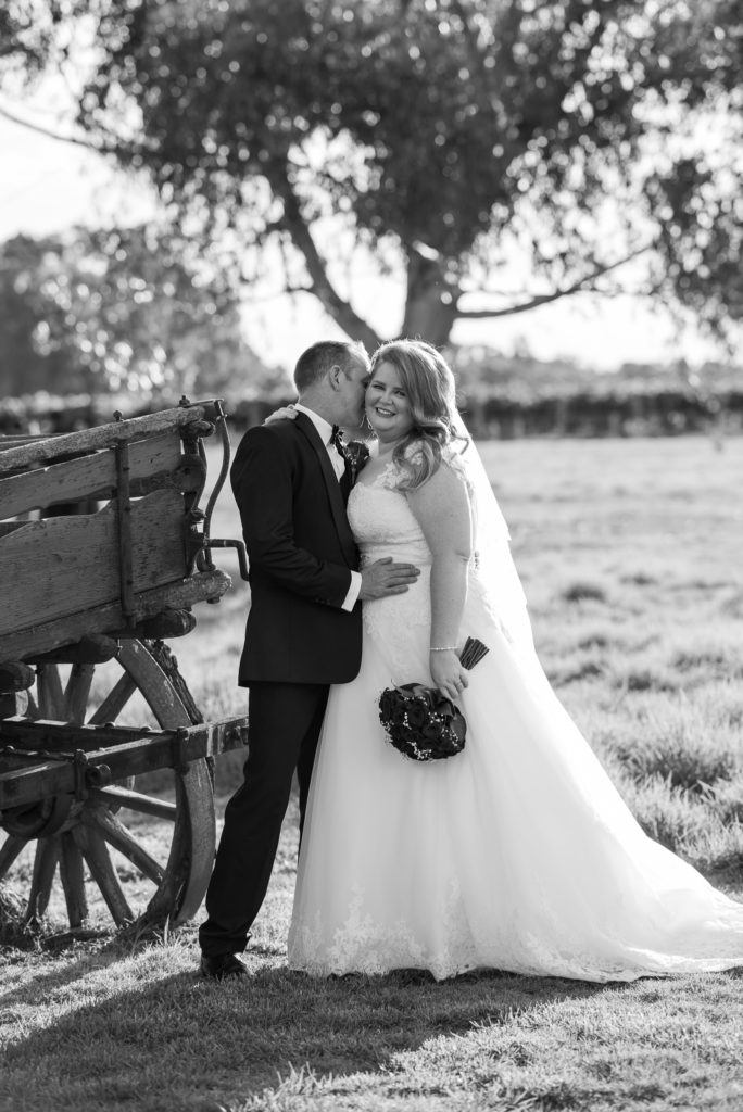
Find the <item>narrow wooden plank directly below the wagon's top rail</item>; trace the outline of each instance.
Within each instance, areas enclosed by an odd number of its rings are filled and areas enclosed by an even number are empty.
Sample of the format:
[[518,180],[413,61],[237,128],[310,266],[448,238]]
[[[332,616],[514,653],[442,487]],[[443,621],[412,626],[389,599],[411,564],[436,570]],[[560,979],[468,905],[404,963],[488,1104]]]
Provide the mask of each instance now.
[[[129,448],[130,478],[149,479],[172,471],[181,461],[178,430]],[[161,484],[165,485],[165,484]],[[116,451],[108,448],[81,459],[68,459],[36,470],[0,479],[0,518],[16,517],[29,509],[43,509],[61,502],[108,498],[116,487]]]

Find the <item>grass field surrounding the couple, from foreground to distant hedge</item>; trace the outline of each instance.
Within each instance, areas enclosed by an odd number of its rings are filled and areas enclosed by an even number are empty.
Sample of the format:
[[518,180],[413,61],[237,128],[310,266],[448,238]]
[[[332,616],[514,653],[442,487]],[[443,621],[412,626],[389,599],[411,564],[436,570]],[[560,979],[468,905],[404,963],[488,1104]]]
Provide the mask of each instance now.
[[[561,698],[645,830],[743,898],[743,439],[483,451]],[[212,534],[239,535],[228,497]],[[246,602],[238,584],[174,644],[208,717],[245,709],[234,677]],[[221,802],[234,766],[220,768]],[[293,808],[247,983],[196,976],[195,927],[55,946],[52,905],[46,936],[0,954],[0,1108],[743,1106],[739,973],[314,981],[285,963],[295,854]]]

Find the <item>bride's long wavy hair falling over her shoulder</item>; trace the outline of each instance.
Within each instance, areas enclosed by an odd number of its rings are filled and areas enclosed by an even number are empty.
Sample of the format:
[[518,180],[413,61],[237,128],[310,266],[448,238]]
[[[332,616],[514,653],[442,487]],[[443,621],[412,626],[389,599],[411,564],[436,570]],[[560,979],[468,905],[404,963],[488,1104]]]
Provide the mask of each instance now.
[[395,367],[410,404],[413,428],[395,447],[393,459],[409,475],[402,488],[415,490],[438,470],[443,449],[452,440],[467,441],[457,413],[454,375],[425,340],[383,344],[371,358],[373,375],[382,363]]

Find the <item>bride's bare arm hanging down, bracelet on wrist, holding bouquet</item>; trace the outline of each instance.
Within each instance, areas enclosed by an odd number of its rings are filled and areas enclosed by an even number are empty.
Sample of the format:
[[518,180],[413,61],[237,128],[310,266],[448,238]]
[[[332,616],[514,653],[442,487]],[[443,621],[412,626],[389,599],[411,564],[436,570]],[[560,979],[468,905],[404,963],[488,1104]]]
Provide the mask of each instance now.
[[[472,519],[464,483],[446,464],[416,490],[408,504],[430,548],[430,675],[449,698],[467,686],[456,653],[467,597]],[[444,649],[444,652],[442,652]]]

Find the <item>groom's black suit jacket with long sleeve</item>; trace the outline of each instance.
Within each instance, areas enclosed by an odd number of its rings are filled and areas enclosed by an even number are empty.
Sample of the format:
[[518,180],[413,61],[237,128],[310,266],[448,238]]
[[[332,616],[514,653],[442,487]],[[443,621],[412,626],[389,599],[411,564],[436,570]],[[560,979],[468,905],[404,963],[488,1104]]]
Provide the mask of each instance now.
[[238,683],[347,683],[361,663],[361,609],[340,607],[358,552],[311,420],[248,429],[230,479],[250,562]]

